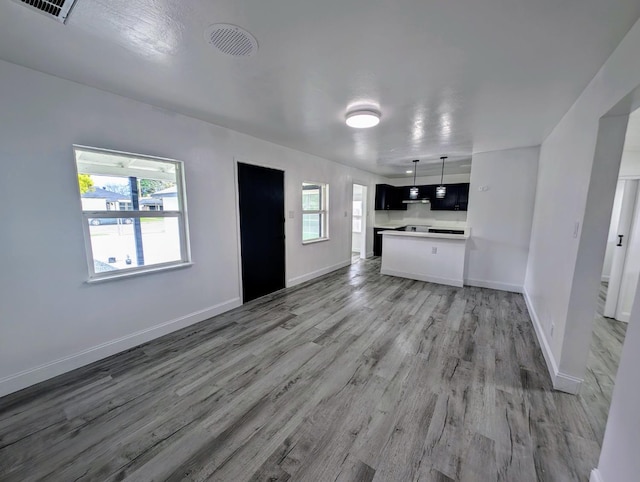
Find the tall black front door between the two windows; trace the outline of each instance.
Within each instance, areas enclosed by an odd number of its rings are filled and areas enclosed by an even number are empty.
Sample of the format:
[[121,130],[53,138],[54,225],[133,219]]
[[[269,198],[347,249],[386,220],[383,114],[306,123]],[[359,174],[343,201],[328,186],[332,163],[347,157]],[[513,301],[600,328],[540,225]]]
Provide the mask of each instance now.
[[238,163],[242,297],[284,288],[284,172]]

